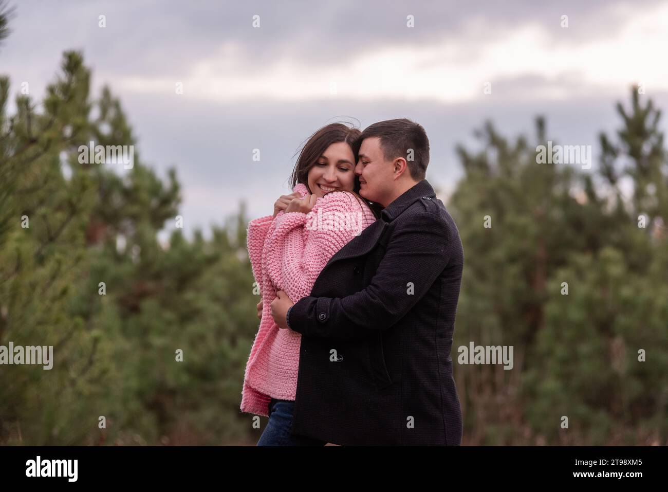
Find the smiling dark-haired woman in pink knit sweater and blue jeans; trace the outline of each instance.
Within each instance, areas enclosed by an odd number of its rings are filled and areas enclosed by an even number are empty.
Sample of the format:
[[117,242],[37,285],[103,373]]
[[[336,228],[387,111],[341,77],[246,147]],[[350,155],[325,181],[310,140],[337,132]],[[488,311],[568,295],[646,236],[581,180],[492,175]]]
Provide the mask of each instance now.
[[248,256],[262,299],[241,410],[269,416],[259,446],[326,444],[290,435],[301,334],[279,329],[271,301],[278,290],[293,302],[309,295],[329,259],[378,217],[378,206],[357,195],[353,149],[359,135],[339,123],[315,132],[295,164],[294,193],[276,201],[273,215],[248,224]]

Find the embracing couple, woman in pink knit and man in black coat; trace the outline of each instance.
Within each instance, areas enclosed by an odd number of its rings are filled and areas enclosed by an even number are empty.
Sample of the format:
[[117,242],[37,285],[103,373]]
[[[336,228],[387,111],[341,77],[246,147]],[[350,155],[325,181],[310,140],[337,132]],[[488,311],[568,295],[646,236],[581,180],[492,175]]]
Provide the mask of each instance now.
[[428,164],[415,122],[329,124],[303,146],[294,193],[249,223],[261,323],[240,409],[269,416],[259,446],[460,445],[464,253]]

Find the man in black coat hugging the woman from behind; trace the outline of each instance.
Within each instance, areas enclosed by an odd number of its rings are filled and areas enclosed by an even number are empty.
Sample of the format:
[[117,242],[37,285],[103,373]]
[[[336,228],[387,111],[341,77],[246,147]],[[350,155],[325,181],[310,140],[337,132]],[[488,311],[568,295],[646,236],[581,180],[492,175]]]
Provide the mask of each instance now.
[[406,119],[359,138],[359,194],[385,207],[327,263],[311,295],[273,301],[302,334],[291,431],[339,445],[460,445],[452,334],[464,253],[425,179],[429,140]]

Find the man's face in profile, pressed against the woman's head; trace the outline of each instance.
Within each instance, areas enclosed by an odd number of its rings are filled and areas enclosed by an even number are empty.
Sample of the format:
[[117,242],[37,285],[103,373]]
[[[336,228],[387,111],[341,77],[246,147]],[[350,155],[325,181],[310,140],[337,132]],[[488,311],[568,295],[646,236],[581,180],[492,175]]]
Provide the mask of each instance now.
[[391,161],[385,160],[380,138],[369,137],[362,140],[355,174],[359,176],[359,195],[383,207],[389,205],[388,199],[392,195],[395,181]]

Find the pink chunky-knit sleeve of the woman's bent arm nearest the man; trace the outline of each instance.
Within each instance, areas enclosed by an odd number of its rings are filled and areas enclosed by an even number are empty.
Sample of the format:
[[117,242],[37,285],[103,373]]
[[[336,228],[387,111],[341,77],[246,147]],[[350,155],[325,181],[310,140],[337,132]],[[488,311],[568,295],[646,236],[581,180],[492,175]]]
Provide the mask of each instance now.
[[[354,199],[352,202],[357,203]],[[291,212],[277,216],[269,237],[267,261],[271,277],[280,279],[277,287],[293,301],[309,295],[329,259],[359,235],[357,224],[361,227],[361,223],[352,202],[346,193],[330,193],[318,199],[317,206],[308,214]],[[323,217],[325,221],[331,217],[353,220],[337,222],[337,227],[323,227]]]

